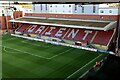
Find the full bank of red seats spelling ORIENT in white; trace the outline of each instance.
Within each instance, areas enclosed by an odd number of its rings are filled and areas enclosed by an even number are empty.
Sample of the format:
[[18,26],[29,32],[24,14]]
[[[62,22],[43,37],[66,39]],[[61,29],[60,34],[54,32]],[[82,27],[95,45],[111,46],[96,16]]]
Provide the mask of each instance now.
[[113,35],[113,30],[95,31],[78,28],[65,28],[55,26],[41,26],[24,24],[18,29],[19,32],[26,34],[39,34],[55,38],[74,40],[80,42],[92,42],[93,44],[101,44],[107,46]]

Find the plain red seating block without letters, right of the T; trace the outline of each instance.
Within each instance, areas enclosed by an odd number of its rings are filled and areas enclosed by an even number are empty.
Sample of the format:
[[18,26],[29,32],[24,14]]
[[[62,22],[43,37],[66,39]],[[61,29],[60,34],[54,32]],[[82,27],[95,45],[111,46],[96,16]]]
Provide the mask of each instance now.
[[107,46],[112,35],[113,35],[113,30],[98,31],[98,33],[92,43]]

